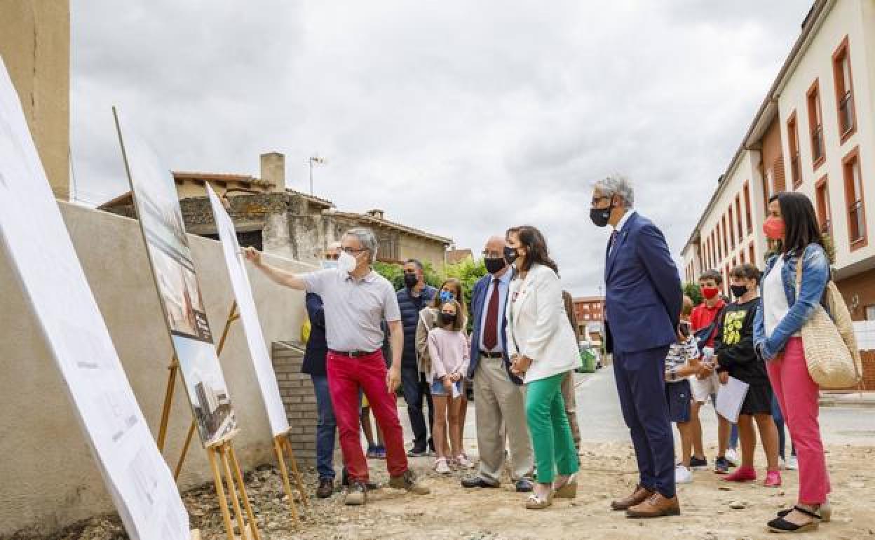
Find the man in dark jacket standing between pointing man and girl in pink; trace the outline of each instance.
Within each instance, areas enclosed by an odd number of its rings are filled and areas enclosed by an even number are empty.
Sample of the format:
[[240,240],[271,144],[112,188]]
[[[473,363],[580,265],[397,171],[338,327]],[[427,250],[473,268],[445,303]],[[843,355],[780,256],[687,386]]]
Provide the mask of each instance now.
[[[429,447],[434,447],[429,437],[431,425],[434,424],[434,410],[429,385],[425,381],[425,374],[420,370],[416,355],[416,325],[419,322],[419,312],[429,305],[435,294],[437,289],[425,284],[423,263],[416,259],[404,263],[404,286],[397,295],[404,327],[401,382],[404,401],[407,402],[407,414],[410,417],[410,428],[413,430],[413,447],[407,452],[410,457],[424,456],[428,454]],[[423,397],[429,405],[428,431],[423,415]]]

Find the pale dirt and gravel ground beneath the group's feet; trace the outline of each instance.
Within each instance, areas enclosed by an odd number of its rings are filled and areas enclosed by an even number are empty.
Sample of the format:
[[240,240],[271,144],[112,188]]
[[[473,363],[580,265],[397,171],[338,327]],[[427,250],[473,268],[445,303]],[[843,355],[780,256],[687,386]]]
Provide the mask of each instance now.
[[[758,456],[759,458],[759,456]],[[726,485],[710,471],[695,473],[695,481],[679,487],[683,515],[647,522],[627,520],[607,509],[608,502],[627,494],[634,485],[631,447],[617,443],[584,445],[583,468],[577,499],[556,501],[552,508],[527,511],[522,496],[506,481],[499,489],[465,490],[458,480],[467,473],[456,470],[437,475],[431,459],[412,460],[424,474],[432,493],[422,497],[384,487],[370,494],[364,507],[345,507],[342,496],[311,500],[296,525],[286,506],[276,469],[262,467],[247,474],[247,488],[253,501],[264,540],[352,539],[352,538],[459,538],[498,540],[517,538],[606,538],[620,539],[647,534],[660,538],[722,540],[769,536],[765,522],[795,499],[797,478],[784,472],[784,486],[762,487],[756,483]],[[825,523],[817,538],[875,538],[875,448],[831,446],[830,471],[834,494],[834,521]],[[758,464],[761,470],[761,464]],[[372,460],[373,480],[385,482],[385,463]],[[308,487],[315,474],[304,474]],[[205,540],[226,536],[213,487],[194,489],[184,495],[192,526],[200,528]],[[738,507],[738,508],[736,508]],[[14,536],[15,540],[104,540],[127,538],[115,516],[95,517],[51,537]]]

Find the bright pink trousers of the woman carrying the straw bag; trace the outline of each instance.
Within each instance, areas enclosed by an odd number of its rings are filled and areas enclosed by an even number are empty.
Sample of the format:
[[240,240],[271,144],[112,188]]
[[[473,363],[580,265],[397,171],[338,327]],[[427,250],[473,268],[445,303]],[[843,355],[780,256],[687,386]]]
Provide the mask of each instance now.
[[767,370],[781,413],[790,429],[790,438],[796,446],[799,502],[821,504],[831,491],[830,473],[826,470],[826,455],[817,421],[820,389],[811,379],[805,364],[802,338],[790,338],[784,353],[767,362]]

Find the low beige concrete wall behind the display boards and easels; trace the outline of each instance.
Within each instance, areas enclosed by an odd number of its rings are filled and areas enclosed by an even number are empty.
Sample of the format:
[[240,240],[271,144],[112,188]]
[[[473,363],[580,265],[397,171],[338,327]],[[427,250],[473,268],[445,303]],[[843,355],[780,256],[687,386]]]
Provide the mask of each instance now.
[[[167,365],[172,356],[139,224],[114,214],[60,203],[67,228],[123,362],[137,402],[153,434],[158,432]],[[194,262],[214,333],[221,333],[232,292],[219,242],[189,235]],[[268,256],[289,270],[307,267]],[[268,342],[294,340],[304,317],[303,294],[250,271],[255,302]],[[54,362],[48,356],[11,263],[0,256],[0,535],[27,528],[58,529],[112,510],[94,459],[88,452]],[[271,438],[242,325],[228,334],[221,364],[235,405],[240,433],[235,448],[242,466],[272,460]],[[192,412],[181,383],[168,432],[168,462],[175,466]],[[294,420],[291,421],[294,425]],[[186,459],[185,489],[211,480],[200,442]]]

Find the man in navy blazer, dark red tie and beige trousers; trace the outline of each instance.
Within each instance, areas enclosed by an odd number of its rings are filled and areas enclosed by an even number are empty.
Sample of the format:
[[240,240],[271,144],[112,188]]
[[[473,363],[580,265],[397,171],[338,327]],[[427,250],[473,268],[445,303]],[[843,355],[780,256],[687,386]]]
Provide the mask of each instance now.
[[[465,487],[498,487],[505,461],[505,435],[510,445],[510,479],[516,491],[532,490],[532,443],[526,424],[522,381],[510,373],[507,357],[507,293],[514,269],[507,264],[503,236],[493,236],[483,249],[486,271],[471,294],[471,363],[477,404],[476,476],[462,480]],[[509,249],[509,248],[508,248]],[[502,429],[503,427],[503,429]]]

